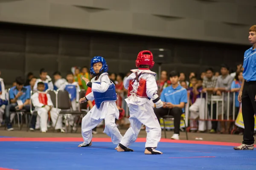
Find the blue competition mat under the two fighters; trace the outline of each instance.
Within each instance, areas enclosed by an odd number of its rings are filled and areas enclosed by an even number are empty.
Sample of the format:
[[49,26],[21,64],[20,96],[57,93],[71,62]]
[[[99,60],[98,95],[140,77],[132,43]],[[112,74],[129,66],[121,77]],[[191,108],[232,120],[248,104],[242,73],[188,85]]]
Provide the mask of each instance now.
[[0,167],[18,170],[256,170],[256,150],[160,142],[163,155],[145,155],[144,142],[134,152],[117,152],[110,142],[0,142]]

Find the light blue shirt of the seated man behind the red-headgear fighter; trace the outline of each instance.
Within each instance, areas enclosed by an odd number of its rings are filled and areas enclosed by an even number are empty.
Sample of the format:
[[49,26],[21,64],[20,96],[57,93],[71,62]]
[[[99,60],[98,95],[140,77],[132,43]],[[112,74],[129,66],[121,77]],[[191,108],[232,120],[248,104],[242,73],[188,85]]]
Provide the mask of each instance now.
[[[180,102],[186,104],[188,102],[187,90],[180,85],[178,85],[177,88],[172,88],[172,85],[170,85],[163,89],[160,99],[163,102],[171,102],[173,105],[179,105]],[[182,111],[184,113],[184,108]]]

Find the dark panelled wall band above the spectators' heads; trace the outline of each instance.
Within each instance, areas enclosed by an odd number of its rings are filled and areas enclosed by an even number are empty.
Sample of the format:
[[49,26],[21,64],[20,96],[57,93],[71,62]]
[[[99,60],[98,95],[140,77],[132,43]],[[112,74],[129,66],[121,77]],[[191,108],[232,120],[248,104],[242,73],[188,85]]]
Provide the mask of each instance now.
[[125,73],[135,68],[138,52],[149,48],[171,50],[163,70],[199,74],[209,66],[219,70],[221,63],[236,68],[250,46],[0,23],[0,71],[6,84],[30,71],[38,76],[40,68],[50,76],[57,70],[65,75],[72,66],[89,67],[96,55],[105,57],[109,71]]

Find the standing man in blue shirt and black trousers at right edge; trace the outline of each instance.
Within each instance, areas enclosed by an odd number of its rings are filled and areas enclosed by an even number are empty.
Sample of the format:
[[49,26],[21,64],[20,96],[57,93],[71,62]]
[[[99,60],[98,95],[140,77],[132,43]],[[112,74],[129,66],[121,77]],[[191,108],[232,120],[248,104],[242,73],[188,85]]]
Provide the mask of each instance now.
[[256,25],[249,30],[249,42],[253,44],[244,53],[243,82],[238,100],[242,102],[244,120],[243,143],[235,150],[253,150],[254,114],[256,113]]

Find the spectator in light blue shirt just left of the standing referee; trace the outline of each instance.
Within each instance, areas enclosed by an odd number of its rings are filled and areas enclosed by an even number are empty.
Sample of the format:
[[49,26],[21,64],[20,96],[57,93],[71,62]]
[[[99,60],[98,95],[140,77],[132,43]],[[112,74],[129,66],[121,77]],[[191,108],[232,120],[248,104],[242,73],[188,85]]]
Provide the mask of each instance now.
[[241,88],[241,84],[243,80],[243,71],[236,73],[235,79],[236,80],[234,80],[231,85],[231,92],[236,92],[235,94],[235,117],[236,117],[239,113],[239,107],[240,107],[240,103],[238,101],[238,94],[239,94],[239,90]]

